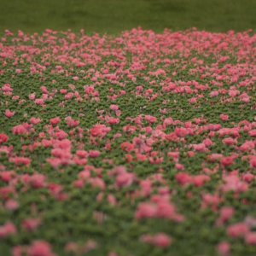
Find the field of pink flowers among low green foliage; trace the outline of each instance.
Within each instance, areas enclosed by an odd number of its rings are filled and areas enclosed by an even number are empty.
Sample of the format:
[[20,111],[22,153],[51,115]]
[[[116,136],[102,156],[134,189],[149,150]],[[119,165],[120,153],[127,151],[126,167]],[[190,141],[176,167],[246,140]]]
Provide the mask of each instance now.
[[256,34],[0,38],[0,254],[256,255]]

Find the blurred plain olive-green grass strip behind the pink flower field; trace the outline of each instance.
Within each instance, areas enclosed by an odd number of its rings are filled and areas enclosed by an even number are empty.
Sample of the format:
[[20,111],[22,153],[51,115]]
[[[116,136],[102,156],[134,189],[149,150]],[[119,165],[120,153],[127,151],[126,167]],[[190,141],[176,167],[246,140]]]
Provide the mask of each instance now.
[[256,26],[256,0],[0,0],[0,30],[118,33],[142,26],[225,32]]

